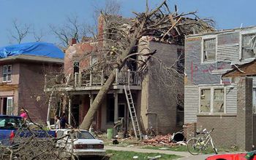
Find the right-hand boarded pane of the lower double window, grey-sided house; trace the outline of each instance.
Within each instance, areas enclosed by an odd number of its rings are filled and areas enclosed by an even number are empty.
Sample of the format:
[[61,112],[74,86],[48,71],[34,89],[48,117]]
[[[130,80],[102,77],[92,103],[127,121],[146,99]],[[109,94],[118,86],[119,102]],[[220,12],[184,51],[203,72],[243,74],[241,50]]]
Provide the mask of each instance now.
[[214,113],[224,112],[224,89],[214,89]]

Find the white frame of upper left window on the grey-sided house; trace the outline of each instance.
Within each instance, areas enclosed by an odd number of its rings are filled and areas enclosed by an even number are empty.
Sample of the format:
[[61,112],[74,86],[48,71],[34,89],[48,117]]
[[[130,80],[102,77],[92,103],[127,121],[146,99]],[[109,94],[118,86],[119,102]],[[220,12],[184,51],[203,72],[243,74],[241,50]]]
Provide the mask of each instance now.
[[[204,60],[204,41],[208,39],[215,39],[215,60]],[[217,62],[217,44],[218,44],[218,37],[217,35],[207,35],[202,37],[201,41],[201,63],[216,63]]]

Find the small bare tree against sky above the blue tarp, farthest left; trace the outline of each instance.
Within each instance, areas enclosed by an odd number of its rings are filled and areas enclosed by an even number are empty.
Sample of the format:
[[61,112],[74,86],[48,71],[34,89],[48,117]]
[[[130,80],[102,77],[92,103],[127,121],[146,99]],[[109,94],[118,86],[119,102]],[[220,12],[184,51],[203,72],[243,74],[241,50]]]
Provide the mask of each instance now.
[[18,20],[12,20],[12,26],[14,28],[14,31],[10,31],[10,35],[12,39],[15,39],[15,41],[18,42],[18,44],[25,39],[26,36],[28,36],[31,25],[27,24],[20,24],[18,23]]

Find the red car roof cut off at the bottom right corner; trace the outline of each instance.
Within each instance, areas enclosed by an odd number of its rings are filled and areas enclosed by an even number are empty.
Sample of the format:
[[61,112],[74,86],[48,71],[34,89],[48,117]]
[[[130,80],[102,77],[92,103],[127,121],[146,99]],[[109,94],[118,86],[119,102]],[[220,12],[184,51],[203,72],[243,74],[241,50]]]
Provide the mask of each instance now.
[[219,154],[209,156],[206,160],[256,160],[256,151],[247,153]]

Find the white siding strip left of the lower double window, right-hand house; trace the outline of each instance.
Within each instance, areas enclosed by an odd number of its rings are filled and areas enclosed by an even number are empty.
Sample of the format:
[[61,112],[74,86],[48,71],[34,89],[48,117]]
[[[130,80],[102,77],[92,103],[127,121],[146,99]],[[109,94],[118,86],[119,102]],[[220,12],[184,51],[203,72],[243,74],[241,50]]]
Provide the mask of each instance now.
[[184,92],[184,123],[197,122],[198,87],[186,86]]

